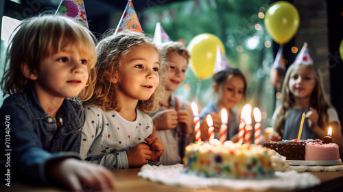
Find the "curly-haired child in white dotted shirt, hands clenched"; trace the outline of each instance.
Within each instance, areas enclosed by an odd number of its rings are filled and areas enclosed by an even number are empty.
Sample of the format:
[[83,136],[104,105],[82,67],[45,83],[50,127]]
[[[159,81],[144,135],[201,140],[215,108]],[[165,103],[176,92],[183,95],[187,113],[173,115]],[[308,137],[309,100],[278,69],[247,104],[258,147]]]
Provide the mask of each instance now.
[[159,82],[166,70],[156,45],[144,34],[123,31],[101,40],[97,53],[97,82],[84,106],[80,154],[108,169],[158,164],[163,143],[152,134],[145,113],[158,108],[163,93]]

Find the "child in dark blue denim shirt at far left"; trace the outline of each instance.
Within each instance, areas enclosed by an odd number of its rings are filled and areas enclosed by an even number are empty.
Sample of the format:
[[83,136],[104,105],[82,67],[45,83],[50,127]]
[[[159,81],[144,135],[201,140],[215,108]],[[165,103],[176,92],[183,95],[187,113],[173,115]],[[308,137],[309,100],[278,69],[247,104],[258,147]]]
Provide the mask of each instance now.
[[8,141],[1,147],[10,149],[10,164],[1,167],[7,167],[10,181],[57,182],[73,191],[82,191],[84,183],[114,189],[112,173],[80,160],[84,110],[66,99],[85,86],[82,99],[93,92],[94,40],[65,16],[35,16],[16,29],[1,80],[4,96],[10,95],[0,109],[1,138]]

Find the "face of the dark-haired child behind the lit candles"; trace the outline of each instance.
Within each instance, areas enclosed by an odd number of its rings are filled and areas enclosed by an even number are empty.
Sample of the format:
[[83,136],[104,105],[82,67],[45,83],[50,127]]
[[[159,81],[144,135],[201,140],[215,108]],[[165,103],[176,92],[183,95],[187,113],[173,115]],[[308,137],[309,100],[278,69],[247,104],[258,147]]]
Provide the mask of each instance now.
[[229,76],[219,87],[218,101],[226,108],[234,108],[241,101],[244,93],[244,81],[241,77]]

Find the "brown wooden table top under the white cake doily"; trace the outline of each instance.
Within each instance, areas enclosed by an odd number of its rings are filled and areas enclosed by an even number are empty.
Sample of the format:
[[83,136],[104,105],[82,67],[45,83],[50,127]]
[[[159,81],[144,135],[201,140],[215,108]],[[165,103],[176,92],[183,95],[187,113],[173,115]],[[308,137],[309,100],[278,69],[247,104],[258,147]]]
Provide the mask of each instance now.
[[[216,191],[232,191],[230,189],[220,189],[220,188],[206,188],[206,189],[194,189],[189,187],[173,187],[165,184],[160,184],[156,182],[151,182],[150,180],[143,179],[137,175],[140,169],[122,169],[114,170],[113,173],[117,178],[117,190],[115,191],[125,191],[125,192],[216,192]],[[300,191],[311,191],[311,192],[325,192],[325,191],[343,191],[343,171],[335,172],[309,172],[317,176],[321,184],[316,187],[311,187],[307,189],[296,189],[292,190],[296,192]],[[341,190],[338,190],[341,189]],[[24,184],[12,184],[12,187],[5,187],[3,184],[0,187],[0,191],[49,191],[57,192],[62,191],[60,189],[51,188],[51,187],[32,187]],[[243,190],[243,191],[253,191],[253,190]],[[284,192],[287,190],[275,190],[270,189],[263,192]],[[93,191],[92,191],[93,192]],[[239,191],[242,192],[242,191]],[[255,191],[261,192],[261,191]],[[287,191],[289,192],[289,191]]]

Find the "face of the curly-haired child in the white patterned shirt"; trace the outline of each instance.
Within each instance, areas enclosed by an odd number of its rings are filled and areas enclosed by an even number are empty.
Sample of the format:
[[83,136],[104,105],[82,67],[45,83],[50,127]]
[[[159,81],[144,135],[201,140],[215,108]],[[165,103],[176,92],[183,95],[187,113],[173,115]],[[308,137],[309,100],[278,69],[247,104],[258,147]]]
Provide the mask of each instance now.
[[158,52],[154,48],[147,45],[132,47],[120,63],[118,97],[149,99],[159,83],[159,67]]

